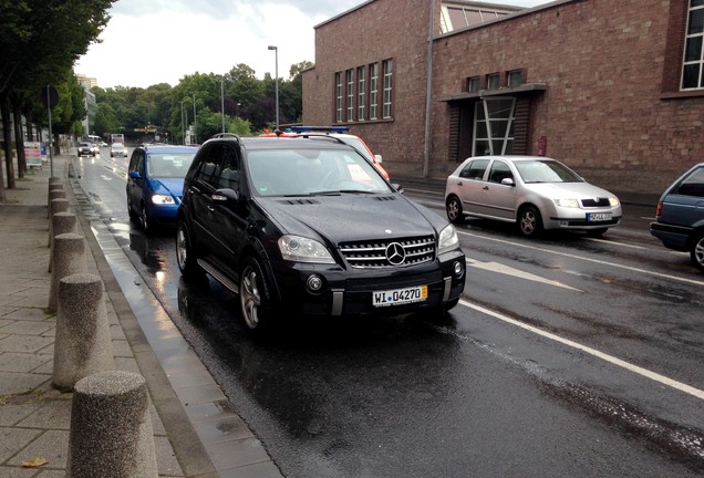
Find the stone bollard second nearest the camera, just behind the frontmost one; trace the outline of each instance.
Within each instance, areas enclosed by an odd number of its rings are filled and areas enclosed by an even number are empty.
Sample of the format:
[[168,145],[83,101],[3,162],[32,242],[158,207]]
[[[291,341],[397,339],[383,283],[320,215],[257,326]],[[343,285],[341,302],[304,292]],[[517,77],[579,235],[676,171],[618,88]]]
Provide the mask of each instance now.
[[71,392],[76,382],[115,368],[110,324],[97,276],[76,273],[59,281],[59,313],[52,385]]

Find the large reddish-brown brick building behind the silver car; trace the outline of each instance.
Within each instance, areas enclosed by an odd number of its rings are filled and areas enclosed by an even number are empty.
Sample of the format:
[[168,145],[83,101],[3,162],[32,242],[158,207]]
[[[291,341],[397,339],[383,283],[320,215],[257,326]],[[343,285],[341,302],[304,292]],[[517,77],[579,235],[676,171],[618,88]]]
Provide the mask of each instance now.
[[703,0],[370,0],[315,27],[303,123],[348,125],[392,176],[514,153],[659,193],[704,162],[703,43]]

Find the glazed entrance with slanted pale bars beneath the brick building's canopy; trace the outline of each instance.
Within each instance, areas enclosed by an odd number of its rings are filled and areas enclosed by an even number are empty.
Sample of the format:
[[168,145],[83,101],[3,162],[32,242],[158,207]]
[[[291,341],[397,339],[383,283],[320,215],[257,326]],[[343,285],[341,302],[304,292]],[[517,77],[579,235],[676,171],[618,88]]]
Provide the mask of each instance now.
[[507,155],[514,152],[516,100],[490,97],[474,107],[473,156]]

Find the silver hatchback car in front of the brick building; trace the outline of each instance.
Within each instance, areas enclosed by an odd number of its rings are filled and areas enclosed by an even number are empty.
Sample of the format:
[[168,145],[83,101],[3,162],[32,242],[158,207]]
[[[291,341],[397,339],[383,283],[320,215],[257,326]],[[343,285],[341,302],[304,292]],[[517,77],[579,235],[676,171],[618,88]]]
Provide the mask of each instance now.
[[547,229],[601,236],[621,222],[619,198],[542,156],[467,158],[447,178],[447,218],[514,222],[526,237]]

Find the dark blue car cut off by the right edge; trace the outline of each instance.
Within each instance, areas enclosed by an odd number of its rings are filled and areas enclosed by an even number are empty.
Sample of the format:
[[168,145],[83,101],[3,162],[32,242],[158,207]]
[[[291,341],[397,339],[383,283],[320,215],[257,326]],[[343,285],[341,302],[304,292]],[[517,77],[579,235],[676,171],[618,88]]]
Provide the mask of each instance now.
[[689,251],[694,266],[704,272],[704,163],[665,189],[650,233],[669,249]]

